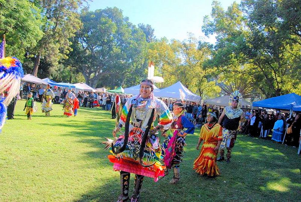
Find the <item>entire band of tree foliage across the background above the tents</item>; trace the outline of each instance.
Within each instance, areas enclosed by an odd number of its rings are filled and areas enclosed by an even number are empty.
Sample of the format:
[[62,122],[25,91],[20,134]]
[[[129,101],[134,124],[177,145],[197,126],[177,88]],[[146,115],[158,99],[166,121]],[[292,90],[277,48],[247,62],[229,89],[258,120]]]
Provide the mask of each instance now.
[[[202,31],[209,44],[157,39],[119,8],[90,11],[86,0],[0,0],[6,53],[27,73],[109,89],[137,85],[147,64],[167,87],[181,81],[203,99],[240,90],[245,98],[301,93],[299,0],[242,0],[224,9],[213,1]],[[86,5],[86,4],[85,4]]]

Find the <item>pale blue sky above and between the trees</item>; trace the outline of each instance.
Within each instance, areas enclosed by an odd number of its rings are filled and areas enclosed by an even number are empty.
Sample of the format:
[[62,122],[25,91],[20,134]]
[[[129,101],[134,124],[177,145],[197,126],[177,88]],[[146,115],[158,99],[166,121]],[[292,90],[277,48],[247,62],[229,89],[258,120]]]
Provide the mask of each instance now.
[[[227,9],[234,1],[222,0],[222,6]],[[123,10],[123,15],[135,25],[150,24],[155,29],[155,36],[167,39],[183,40],[188,38],[188,32],[197,38],[215,43],[215,37],[207,38],[201,30],[203,17],[210,15],[212,0],[94,0],[89,2],[90,10],[117,7]]]

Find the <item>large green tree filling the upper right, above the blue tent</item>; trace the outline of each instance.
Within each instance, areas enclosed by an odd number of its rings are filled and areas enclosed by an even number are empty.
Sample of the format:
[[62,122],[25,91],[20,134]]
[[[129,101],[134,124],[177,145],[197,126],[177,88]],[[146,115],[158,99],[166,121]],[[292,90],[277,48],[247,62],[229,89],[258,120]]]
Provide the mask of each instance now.
[[[250,76],[266,97],[293,92],[300,83],[300,44],[293,28],[284,25],[281,9],[298,10],[283,1],[244,0],[227,11],[213,2],[211,17],[204,18],[206,35],[217,34],[213,63],[221,71],[233,64],[251,64]],[[284,12],[286,13],[286,12]]]

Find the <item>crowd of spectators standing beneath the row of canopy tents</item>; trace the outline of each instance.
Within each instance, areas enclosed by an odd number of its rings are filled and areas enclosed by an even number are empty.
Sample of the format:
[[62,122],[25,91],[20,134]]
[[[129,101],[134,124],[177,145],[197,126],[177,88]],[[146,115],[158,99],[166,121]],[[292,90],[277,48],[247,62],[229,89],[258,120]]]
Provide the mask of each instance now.
[[[42,101],[42,95],[45,88],[41,85],[35,84],[21,84],[20,97],[33,93],[34,101]],[[53,92],[55,95],[54,103],[61,103],[68,90],[67,88],[54,87]],[[73,90],[73,93],[74,90]],[[94,93],[79,90],[75,93],[82,107],[100,107],[103,110],[109,111],[113,105],[114,96],[113,93]],[[130,95],[119,95],[122,105],[131,97]],[[168,106],[169,110],[173,110],[173,104],[177,100],[162,99]],[[242,107],[244,108],[244,106]],[[185,102],[185,117],[194,123],[195,127],[201,127],[206,120],[207,112],[216,112],[219,115],[222,113],[223,107],[206,105],[205,103],[200,105],[196,102]],[[301,130],[301,118],[300,114],[296,114],[292,118],[289,118],[288,113],[281,113],[277,111],[276,114],[268,113],[266,110],[253,110],[243,109],[244,113],[240,118],[240,125],[238,131],[242,134],[250,135],[251,137],[260,137],[264,139],[272,139],[276,142],[282,142],[284,140],[285,145],[293,147],[299,146],[300,130]],[[287,134],[284,134],[287,130]]]

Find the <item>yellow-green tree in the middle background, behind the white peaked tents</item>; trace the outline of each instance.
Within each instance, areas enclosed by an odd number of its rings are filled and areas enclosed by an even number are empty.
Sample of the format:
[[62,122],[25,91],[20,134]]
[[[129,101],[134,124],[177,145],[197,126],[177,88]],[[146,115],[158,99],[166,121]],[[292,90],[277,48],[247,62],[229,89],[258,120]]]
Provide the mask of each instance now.
[[181,81],[201,97],[214,96],[221,90],[216,86],[216,68],[205,66],[210,55],[210,45],[198,42],[192,35],[187,40],[171,43],[162,38],[151,43],[148,50],[148,59],[155,63],[155,74],[165,80],[161,87]]

